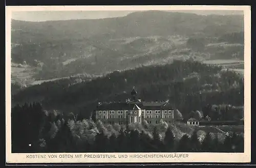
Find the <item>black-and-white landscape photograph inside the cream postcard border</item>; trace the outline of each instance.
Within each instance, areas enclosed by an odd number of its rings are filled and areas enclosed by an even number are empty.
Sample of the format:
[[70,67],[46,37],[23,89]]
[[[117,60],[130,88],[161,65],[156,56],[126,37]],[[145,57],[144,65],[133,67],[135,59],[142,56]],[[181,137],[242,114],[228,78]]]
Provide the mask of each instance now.
[[244,15],[12,11],[11,153],[244,153]]

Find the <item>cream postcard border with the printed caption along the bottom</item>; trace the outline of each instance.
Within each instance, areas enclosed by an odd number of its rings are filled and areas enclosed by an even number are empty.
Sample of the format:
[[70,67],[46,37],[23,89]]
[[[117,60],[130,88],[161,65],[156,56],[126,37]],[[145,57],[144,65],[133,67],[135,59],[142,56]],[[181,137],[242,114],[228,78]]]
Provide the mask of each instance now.
[[[146,10],[242,10],[244,11],[244,153],[11,153],[11,12],[12,11],[146,11]],[[7,163],[163,163],[250,162],[251,160],[251,11],[250,6],[7,6],[6,7],[6,162]],[[48,155],[57,158],[49,158]],[[60,157],[63,154],[73,158]],[[81,155],[78,158],[75,156]],[[92,155],[92,158],[88,158]],[[113,155],[113,158],[98,158]],[[119,156],[127,158],[119,158]],[[134,158],[138,155],[143,158]],[[149,156],[154,155],[155,158]],[[166,155],[166,157],[158,157]],[[167,155],[169,156],[167,158]],[[42,156],[45,158],[30,158]],[[86,157],[85,157],[86,156]],[[180,156],[180,157],[179,157]],[[96,157],[96,158],[93,158]],[[101,156],[103,157],[103,156]]]

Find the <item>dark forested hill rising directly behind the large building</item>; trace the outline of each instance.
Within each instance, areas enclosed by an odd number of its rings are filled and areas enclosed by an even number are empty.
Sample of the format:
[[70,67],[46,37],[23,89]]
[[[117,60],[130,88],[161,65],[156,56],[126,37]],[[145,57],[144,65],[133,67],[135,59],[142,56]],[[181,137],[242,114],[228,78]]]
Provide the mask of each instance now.
[[89,119],[98,101],[125,101],[135,86],[142,100],[168,99],[184,119],[197,110],[212,120],[243,117],[243,111],[236,108],[244,104],[241,75],[193,60],[115,71],[75,85],[72,82],[63,79],[25,88],[12,95],[12,106],[37,101],[44,109],[72,112]]

